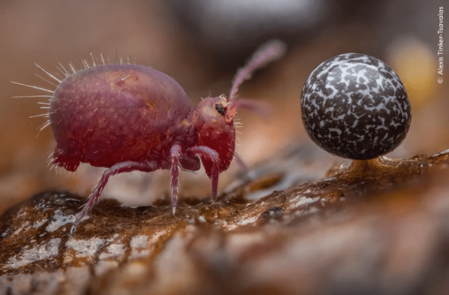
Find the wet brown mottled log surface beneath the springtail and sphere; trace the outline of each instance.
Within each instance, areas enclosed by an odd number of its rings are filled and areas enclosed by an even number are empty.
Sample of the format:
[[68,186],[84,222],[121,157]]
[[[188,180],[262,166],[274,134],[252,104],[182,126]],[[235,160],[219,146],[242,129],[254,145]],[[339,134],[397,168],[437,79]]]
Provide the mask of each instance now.
[[[438,179],[447,180],[448,152],[356,162],[322,180],[320,166],[304,162],[323,156],[313,144],[282,155],[215,203],[185,198],[175,216],[168,201],[103,200],[73,235],[83,199],[34,195],[0,219],[0,293],[403,292],[424,284],[427,266],[449,270],[431,264],[449,238],[449,202],[437,189],[447,186]],[[413,284],[390,282],[393,275]]]

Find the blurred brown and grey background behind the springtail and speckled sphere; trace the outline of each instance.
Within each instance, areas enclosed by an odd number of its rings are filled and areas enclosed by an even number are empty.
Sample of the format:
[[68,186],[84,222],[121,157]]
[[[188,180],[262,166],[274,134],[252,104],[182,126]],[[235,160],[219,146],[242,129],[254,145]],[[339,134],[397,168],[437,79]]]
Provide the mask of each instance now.
[[[34,63],[50,72],[61,62],[136,58],[182,85],[196,105],[201,97],[228,95],[236,69],[269,39],[288,45],[279,61],[257,71],[239,95],[269,102],[269,120],[239,112],[236,151],[249,165],[280,153],[292,142],[310,141],[300,119],[302,85],[328,57],[365,53],[387,62],[406,85],[413,120],[408,137],[391,156],[410,158],[449,148],[449,77],[437,83],[438,7],[445,1],[355,0],[2,0],[0,2],[0,211],[48,189],[88,195],[101,168],[81,165],[75,173],[49,171],[55,142],[39,98],[55,86]],[[446,14],[449,14],[449,6]],[[449,19],[449,18],[448,18]],[[448,25],[449,26],[449,22]],[[449,36],[447,37],[449,38]],[[444,48],[445,52],[449,48]],[[449,67],[449,57],[445,67]],[[445,70],[444,70],[445,71]],[[446,81],[447,80],[447,81]],[[38,135],[39,133],[39,135]],[[317,149],[319,149],[317,147]],[[335,158],[335,163],[342,163]],[[330,161],[329,168],[335,163]],[[300,167],[298,167],[300,169]],[[224,188],[239,173],[233,164],[220,174]],[[148,205],[168,195],[168,172],[113,177],[103,195],[129,205]],[[203,172],[182,173],[180,195],[210,195]],[[128,196],[128,197],[126,197]],[[131,197],[130,197],[131,196]]]

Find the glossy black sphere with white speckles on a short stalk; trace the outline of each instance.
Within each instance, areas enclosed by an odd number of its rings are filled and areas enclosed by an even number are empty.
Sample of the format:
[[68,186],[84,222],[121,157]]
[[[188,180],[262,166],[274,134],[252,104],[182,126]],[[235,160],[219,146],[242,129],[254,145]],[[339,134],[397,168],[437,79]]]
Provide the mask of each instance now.
[[411,121],[398,75],[381,60],[358,53],[331,57],[311,72],[302,88],[301,111],[316,144],[356,160],[396,149]]

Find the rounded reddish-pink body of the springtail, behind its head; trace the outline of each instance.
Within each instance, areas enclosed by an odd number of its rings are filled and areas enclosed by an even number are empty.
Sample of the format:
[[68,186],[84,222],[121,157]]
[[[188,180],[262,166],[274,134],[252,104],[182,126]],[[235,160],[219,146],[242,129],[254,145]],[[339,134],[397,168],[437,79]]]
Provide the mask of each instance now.
[[[123,161],[170,157],[173,142],[196,144],[193,127],[180,124],[191,111],[181,86],[161,71],[138,64],[106,64],[67,77],[52,97],[50,120],[55,163],[111,167]],[[197,163],[198,164],[198,163]],[[196,165],[198,166],[198,165]]]

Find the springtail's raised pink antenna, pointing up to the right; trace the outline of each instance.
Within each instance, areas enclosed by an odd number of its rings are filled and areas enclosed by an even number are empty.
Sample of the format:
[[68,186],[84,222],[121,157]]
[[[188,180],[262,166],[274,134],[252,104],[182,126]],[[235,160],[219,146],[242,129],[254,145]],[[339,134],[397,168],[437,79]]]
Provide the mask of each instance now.
[[280,40],[271,40],[260,46],[259,49],[253,53],[253,56],[248,60],[245,67],[237,71],[234,83],[232,84],[231,93],[229,95],[229,102],[236,99],[237,91],[243,81],[251,78],[253,71],[271,62],[277,60],[286,52],[286,44]]

